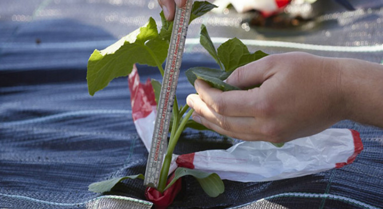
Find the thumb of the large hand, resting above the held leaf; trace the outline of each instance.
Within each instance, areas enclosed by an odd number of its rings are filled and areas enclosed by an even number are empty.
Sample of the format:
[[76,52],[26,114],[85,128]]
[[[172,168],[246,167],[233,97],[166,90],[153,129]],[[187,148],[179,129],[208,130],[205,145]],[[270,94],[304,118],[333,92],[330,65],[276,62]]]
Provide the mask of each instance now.
[[234,72],[226,79],[226,83],[236,86],[240,89],[251,88],[262,84],[271,75],[270,69],[273,67],[271,56],[251,62],[234,70]]

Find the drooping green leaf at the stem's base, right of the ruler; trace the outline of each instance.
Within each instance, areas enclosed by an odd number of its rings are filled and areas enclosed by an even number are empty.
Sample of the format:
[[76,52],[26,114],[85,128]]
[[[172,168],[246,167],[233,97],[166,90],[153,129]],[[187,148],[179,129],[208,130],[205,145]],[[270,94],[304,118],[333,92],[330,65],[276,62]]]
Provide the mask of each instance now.
[[210,197],[218,197],[218,195],[225,191],[225,185],[218,174],[196,171],[189,168],[177,168],[173,180],[166,186],[165,190],[172,186],[179,178],[187,175],[195,177],[203,191]]

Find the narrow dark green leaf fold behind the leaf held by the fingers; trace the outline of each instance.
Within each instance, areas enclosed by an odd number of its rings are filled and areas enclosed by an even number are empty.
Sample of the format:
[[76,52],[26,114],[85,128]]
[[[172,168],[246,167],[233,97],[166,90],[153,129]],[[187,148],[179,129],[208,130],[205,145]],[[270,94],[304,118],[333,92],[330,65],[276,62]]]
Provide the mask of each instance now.
[[232,72],[225,72],[219,69],[205,68],[205,67],[190,68],[185,72],[185,74],[186,74],[186,77],[188,78],[188,81],[193,86],[194,86],[195,79],[197,79],[195,73],[199,75],[203,74],[206,76],[218,78],[219,80],[223,81],[223,80],[226,80],[227,77],[229,77]]

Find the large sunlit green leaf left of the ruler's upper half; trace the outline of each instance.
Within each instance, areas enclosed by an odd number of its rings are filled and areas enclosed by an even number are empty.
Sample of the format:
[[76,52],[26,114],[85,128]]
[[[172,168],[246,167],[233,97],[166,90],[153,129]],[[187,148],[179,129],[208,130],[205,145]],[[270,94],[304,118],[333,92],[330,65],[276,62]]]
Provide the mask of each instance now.
[[141,28],[121,38],[104,50],[95,50],[88,61],[88,90],[90,95],[105,88],[114,78],[127,76],[134,63],[161,65],[169,43],[158,35],[153,18]]

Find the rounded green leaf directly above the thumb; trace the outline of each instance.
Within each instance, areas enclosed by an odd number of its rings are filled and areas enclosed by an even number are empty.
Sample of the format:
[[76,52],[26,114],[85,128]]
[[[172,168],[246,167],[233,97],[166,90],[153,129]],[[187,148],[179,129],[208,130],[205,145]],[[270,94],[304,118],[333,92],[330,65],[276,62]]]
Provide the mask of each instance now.
[[225,71],[233,71],[238,67],[261,59],[268,54],[256,51],[253,54],[238,38],[229,39],[221,44],[218,49],[218,58],[222,62]]

